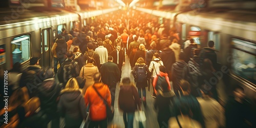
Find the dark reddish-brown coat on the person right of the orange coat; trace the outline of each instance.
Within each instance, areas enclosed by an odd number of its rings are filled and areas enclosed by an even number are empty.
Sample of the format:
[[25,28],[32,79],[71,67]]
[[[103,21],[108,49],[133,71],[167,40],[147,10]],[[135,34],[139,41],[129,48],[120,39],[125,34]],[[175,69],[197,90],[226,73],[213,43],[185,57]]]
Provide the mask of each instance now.
[[118,97],[120,110],[126,113],[134,113],[140,108],[140,98],[137,89],[134,86],[121,86]]

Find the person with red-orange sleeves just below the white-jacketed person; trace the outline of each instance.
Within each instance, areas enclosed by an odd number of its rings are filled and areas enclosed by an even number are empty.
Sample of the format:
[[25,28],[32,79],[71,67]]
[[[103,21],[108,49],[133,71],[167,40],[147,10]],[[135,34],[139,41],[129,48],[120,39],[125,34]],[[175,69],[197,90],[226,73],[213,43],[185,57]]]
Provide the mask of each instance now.
[[164,66],[159,66],[159,74],[157,74],[157,76],[153,79],[153,87],[156,94],[158,90],[162,91],[161,84],[164,81],[168,83],[167,89],[170,91],[170,82],[168,74],[166,73],[166,69]]

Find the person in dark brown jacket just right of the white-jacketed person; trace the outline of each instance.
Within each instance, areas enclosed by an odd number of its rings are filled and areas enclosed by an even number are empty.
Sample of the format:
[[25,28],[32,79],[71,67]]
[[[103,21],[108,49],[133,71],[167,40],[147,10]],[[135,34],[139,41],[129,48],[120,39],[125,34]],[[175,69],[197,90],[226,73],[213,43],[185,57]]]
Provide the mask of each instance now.
[[166,68],[169,79],[171,79],[170,71],[172,70],[173,63],[176,61],[174,51],[166,45],[162,52],[159,54],[159,56],[163,61],[163,66]]

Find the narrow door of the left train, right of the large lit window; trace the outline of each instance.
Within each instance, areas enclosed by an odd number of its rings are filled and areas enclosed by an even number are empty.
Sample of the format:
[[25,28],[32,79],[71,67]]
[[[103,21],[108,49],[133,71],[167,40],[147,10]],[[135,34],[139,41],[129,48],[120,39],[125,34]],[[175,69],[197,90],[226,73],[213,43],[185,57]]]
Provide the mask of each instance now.
[[43,29],[41,31],[41,58],[42,70],[46,71],[51,67],[51,50],[50,50],[50,32],[51,29]]

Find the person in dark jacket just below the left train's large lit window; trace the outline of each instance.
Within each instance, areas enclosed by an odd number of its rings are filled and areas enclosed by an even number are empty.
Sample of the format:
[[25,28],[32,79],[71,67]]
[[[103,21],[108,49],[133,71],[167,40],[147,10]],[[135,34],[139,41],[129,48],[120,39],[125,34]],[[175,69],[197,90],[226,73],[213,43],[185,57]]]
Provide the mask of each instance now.
[[32,57],[30,66],[22,73],[19,80],[19,87],[27,87],[30,98],[35,96],[37,84],[44,80],[44,72],[39,65],[39,58]]

